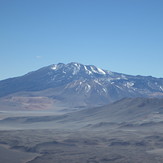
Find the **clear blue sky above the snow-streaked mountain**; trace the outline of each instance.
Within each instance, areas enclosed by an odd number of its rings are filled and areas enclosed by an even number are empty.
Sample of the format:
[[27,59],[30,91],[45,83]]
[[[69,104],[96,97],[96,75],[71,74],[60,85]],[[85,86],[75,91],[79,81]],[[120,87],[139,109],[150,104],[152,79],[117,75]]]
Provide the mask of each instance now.
[[0,80],[59,62],[163,77],[163,0],[0,0]]

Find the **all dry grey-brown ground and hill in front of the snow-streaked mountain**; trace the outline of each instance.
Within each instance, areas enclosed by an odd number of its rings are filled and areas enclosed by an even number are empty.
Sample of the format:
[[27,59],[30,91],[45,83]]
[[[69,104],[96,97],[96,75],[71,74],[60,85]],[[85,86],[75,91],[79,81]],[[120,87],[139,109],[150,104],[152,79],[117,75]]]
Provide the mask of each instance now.
[[1,112],[0,162],[162,163],[161,109],[162,100],[127,99],[60,115]]

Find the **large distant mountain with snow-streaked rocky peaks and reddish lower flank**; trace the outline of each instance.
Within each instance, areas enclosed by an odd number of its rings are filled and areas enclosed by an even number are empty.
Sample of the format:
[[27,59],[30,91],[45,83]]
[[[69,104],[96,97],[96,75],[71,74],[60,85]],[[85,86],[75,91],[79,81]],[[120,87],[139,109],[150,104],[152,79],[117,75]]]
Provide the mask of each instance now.
[[53,64],[0,81],[0,109],[101,106],[125,97],[163,97],[163,78],[132,76],[79,63]]

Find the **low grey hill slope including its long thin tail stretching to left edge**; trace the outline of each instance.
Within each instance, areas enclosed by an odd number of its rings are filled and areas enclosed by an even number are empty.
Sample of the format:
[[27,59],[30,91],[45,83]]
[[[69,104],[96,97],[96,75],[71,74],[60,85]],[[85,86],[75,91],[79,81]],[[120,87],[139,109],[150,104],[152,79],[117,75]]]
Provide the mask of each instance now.
[[[4,118],[0,122],[10,123],[49,123],[49,126],[57,123],[59,126],[67,125],[73,127],[107,127],[108,125],[145,126],[148,124],[163,124],[163,99],[157,98],[124,98],[111,104],[78,110],[62,115],[41,114],[32,116],[15,116]],[[51,124],[51,125],[50,125]],[[33,125],[32,125],[33,126]],[[130,127],[127,126],[127,127]],[[132,127],[131,126],[131,127]]]

